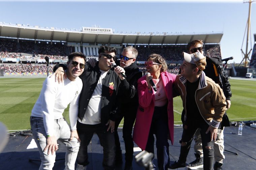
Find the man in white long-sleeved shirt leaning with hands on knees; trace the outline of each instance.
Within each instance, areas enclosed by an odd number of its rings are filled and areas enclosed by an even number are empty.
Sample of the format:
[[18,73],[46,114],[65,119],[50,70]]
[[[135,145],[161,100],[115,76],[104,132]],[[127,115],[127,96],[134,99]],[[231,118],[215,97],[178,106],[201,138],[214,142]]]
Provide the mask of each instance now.
[[[67,147],[65,170],[74,170],[79,150],[80,139],[76,131],[78,102],[83,87],[80,76],[85,68],[85,55],[73,52],[68,56],[67,79],[63,83],[55,82],[54,77],[47,77],[41,93],[32,109],[30,125],[37,144],[41,169],[52,169],[55,163],[57,140]],[[63,118],[64,110],[69,107],[70,126]]]

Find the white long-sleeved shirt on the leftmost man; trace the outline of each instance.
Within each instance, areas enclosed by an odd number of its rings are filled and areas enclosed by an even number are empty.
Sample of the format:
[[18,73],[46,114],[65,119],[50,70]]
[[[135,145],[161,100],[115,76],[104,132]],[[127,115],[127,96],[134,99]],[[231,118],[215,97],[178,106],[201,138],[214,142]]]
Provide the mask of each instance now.
[[69,103],[70,126],[72,130],[76,129],[78,102],[82,87],[83,83],[79,77],[75,81],[65,79],[60,84],[55,82],[55,76],[45,79],[31,116],[43,118],[47,135],[54,135],[54,119],[63,117],[62,114]]

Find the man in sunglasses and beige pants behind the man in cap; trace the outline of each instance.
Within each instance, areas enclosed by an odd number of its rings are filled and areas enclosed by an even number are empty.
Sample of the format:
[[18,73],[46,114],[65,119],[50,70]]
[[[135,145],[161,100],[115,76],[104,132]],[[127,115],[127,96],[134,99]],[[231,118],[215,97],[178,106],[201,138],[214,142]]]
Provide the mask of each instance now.
[[[204,54],[204,48],[203,48],[203,41],[202,40],[193,40],[188,43],[186,46],[186,49],[189,54],[200,52]],[[230,90],[230,83],[228,80],[228,76],[224,69],[222,68],[222,61],[220,58],[206,57],[206,67],[203,72],[207,77],[210,77],[215,81],[215,83],[219,84],[220,87],[223,89],[224,95],[226,97],[226,108],[229,109],[231,105],[230,97],[232,96],[231,90]],[[184,122],[184,115],[185,112],[183,110],[182,112],[182,122]],[[222,169],[221,166],[223,164],[223,159],[225,159],[224,156],[224,126],[229,126],[229,120],[226,115],[226,113],[223,116],[223,120],[221,122],[221,126],[218,129],[218,136],[216,141],[214,142],[214,157],[215,157],[215,165],[214,169],[219,170]],[[201,135],[200,130],[197,130],[194,135],[195,145],[195,157],[196,159],[188,164],[188,169],[197,169],[203,167],[203,150],[202,150],[202,141],[201,141]]]

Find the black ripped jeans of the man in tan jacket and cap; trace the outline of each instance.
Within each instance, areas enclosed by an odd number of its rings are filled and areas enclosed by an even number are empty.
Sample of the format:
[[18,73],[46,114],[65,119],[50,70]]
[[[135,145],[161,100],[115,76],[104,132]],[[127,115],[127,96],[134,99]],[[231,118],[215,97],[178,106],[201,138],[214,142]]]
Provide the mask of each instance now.
[[209,131],[207,134],[205,132],[209,128],[209,124],[207,124],[203,119],[200,120],[186,120],[183,123],[183,133],[182,133],[182,143],[186,143],[185,145],[181,145],[181,152],[179,161],[182,163],[186,163],[187,155],[190,150],[191,142],[193,140],[193,136],[196,130],[200,128],[200,134],[202,138],[202,148],[203,148],[203,169],[211,170],[213,168],[214,163],[214,141],[211,141],[211,132]]

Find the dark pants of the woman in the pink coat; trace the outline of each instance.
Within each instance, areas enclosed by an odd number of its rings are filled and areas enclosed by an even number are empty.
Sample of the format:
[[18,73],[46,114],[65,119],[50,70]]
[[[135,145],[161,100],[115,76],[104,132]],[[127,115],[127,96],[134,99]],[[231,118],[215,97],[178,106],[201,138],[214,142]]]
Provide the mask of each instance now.
[[170,164],[168,143],[167,105],[155,107],[151,121],[146,151],[154,154],[154,135],[156,135],[157,165],[159,170],[167,170]]

